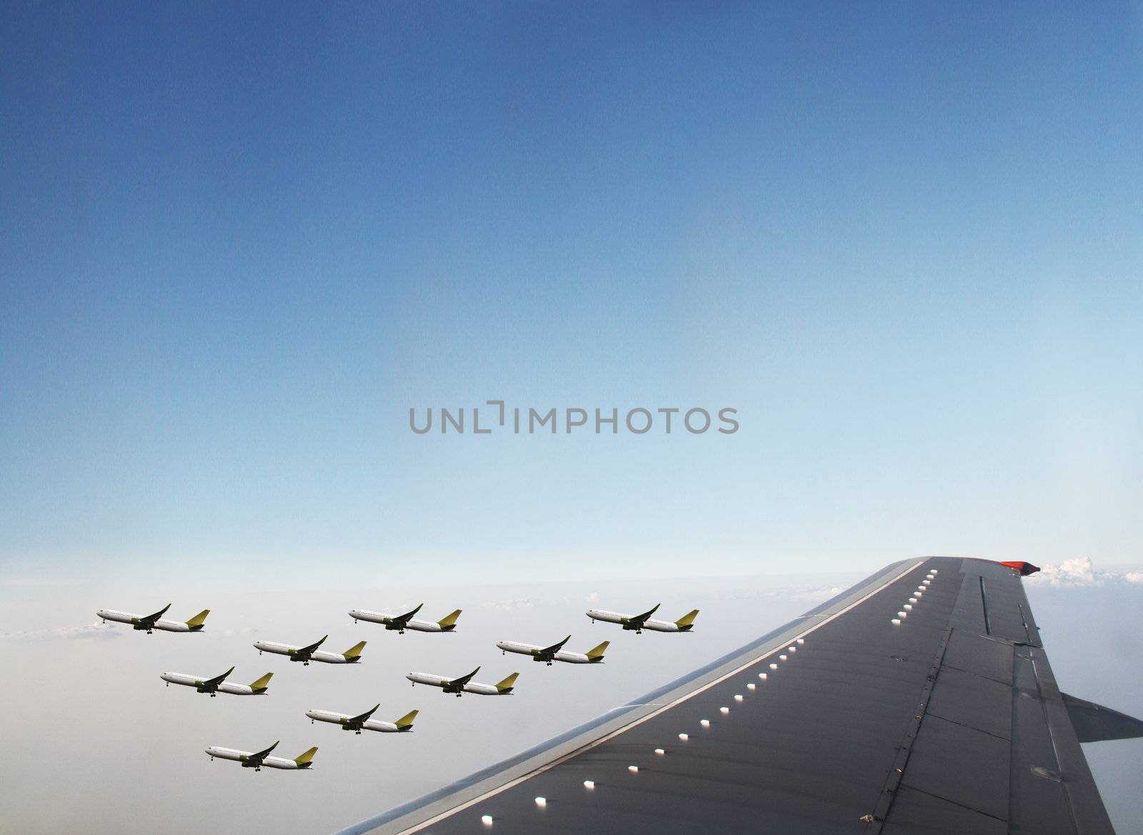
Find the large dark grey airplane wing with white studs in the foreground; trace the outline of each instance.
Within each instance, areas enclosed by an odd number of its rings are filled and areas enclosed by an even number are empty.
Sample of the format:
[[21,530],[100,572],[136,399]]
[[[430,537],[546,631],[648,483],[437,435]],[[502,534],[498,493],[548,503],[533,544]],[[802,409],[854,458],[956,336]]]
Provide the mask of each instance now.
[[342,835],[1111,835],[1020,572],[894,563]]

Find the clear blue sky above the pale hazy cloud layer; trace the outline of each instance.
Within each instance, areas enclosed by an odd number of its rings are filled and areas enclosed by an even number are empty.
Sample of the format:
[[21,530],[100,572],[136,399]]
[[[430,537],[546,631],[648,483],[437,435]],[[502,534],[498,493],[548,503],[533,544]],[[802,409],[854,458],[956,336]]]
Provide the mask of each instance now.
[[1137,5],[0,14],[8,579],[1141,561]]

